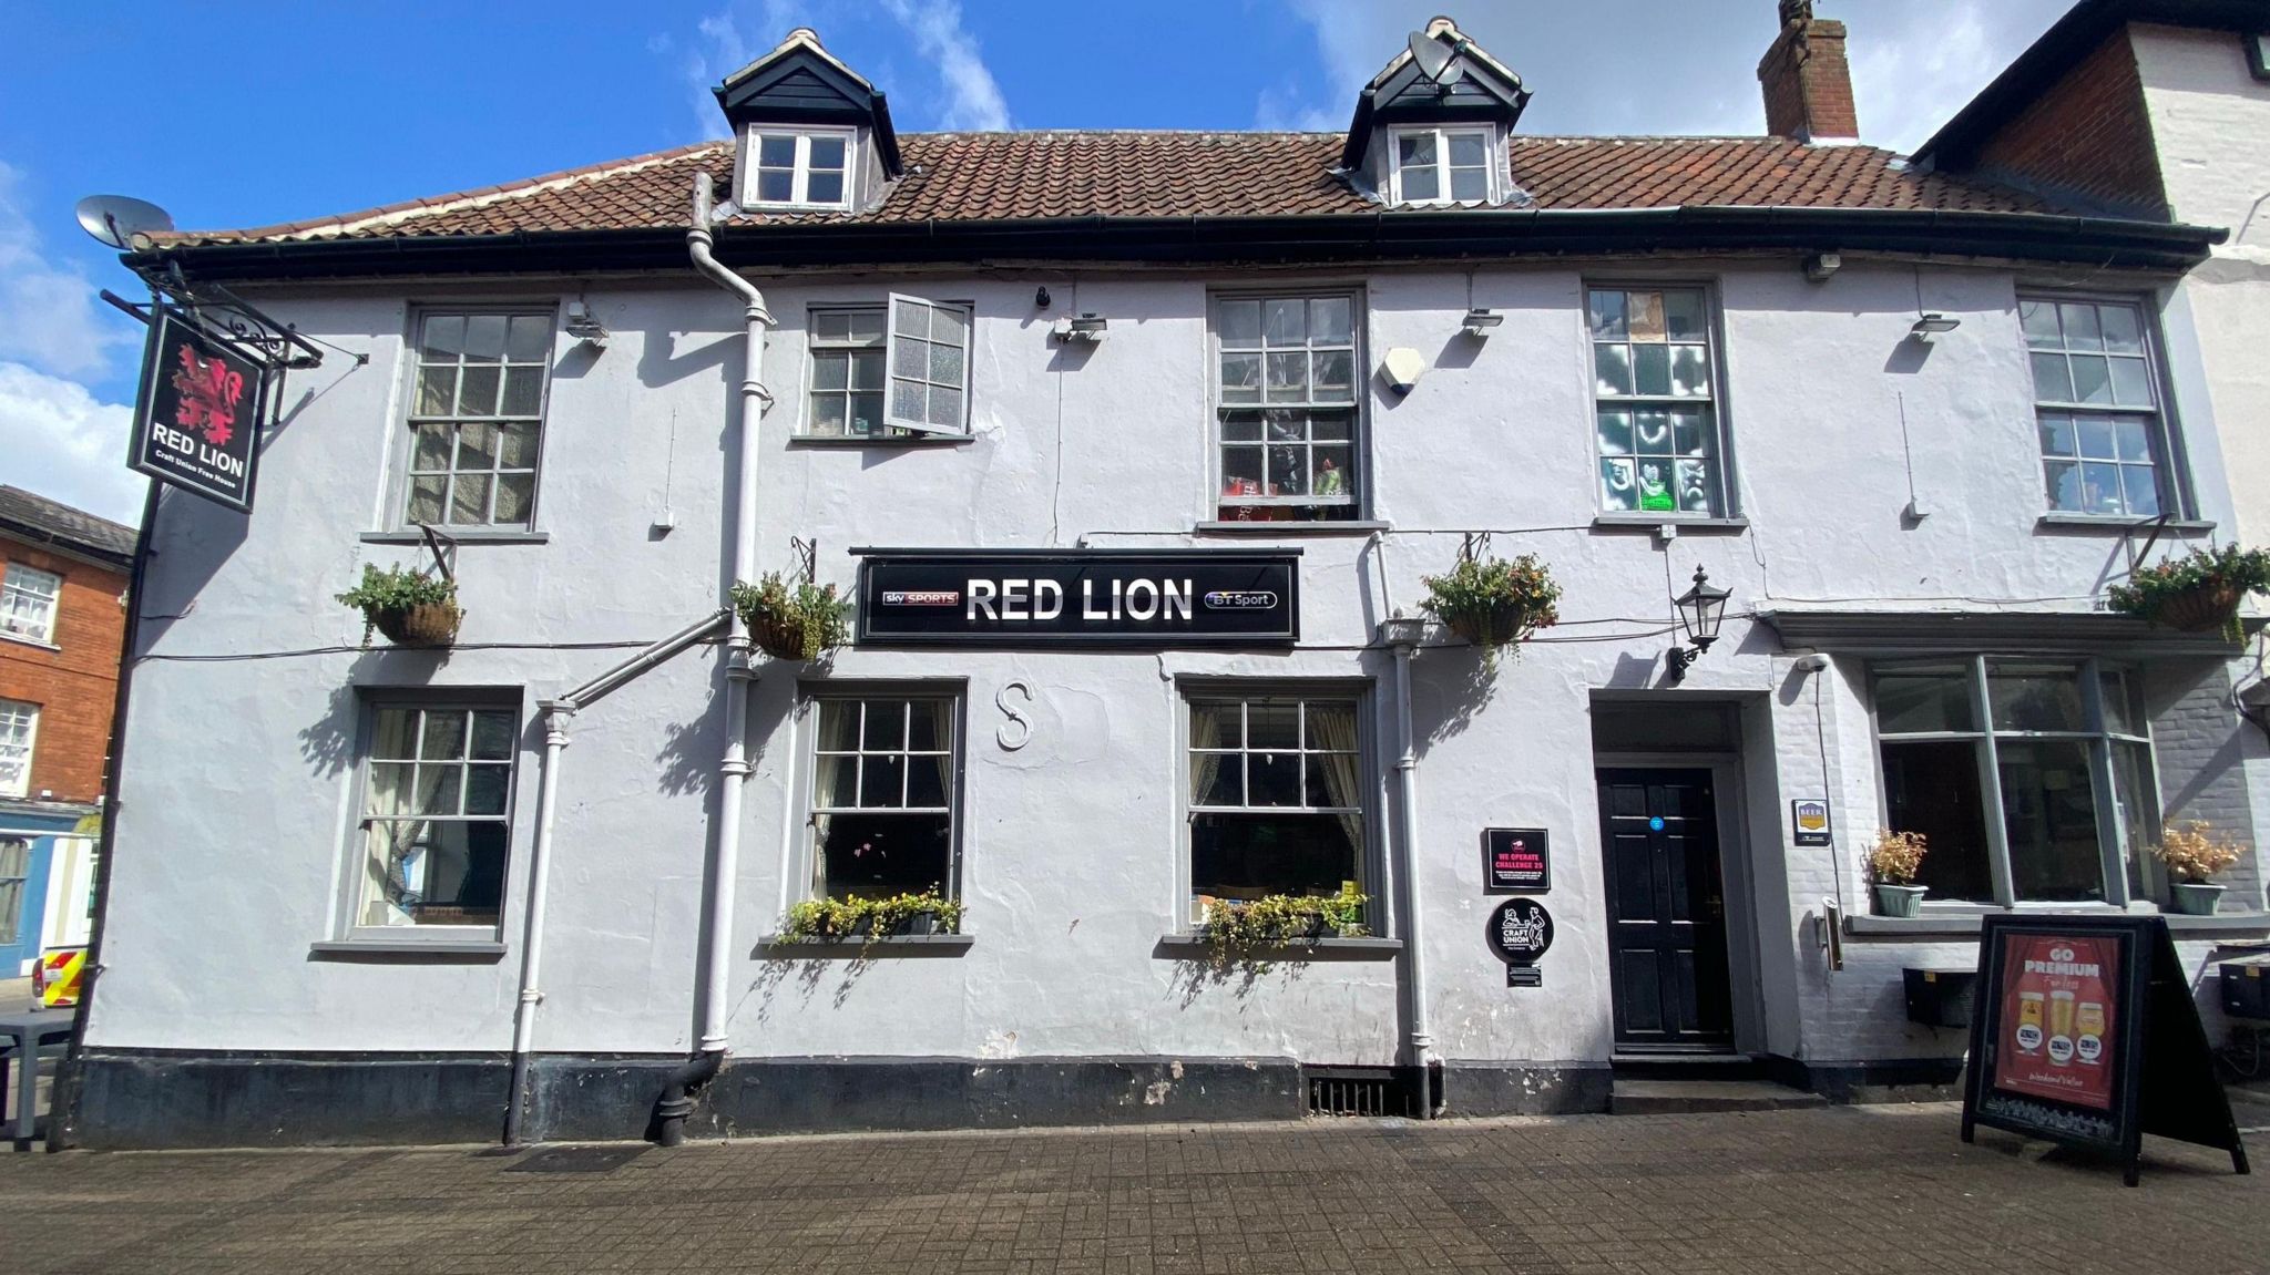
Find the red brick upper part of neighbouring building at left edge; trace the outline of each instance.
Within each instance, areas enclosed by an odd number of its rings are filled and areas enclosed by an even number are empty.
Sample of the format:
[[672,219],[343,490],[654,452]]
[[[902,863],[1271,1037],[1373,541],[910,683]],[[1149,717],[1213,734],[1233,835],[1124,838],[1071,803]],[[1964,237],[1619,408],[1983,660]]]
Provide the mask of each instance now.
[[134,529],[0,488],[0,801],[93,803]]

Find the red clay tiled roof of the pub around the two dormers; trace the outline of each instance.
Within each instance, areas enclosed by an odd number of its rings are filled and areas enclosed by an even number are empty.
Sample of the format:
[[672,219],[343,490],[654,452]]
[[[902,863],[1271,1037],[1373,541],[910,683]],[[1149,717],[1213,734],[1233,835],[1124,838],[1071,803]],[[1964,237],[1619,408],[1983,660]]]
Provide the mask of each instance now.
[[[765,213],[740,225],[888,225],[1022,218],[1369,216],[1332,172],[1339,134],[1006,132],[906,134],[906,177],[858,213]],[[699,143],[527,181],[166,245],[665,229],[690,220],[692,177],[731,188],[731,143]],[[2050,213],[2041,200],[1939,172],[1889,150],[1786,138],[1514,138],[1512,177],[1539,209],[1805,206]]]

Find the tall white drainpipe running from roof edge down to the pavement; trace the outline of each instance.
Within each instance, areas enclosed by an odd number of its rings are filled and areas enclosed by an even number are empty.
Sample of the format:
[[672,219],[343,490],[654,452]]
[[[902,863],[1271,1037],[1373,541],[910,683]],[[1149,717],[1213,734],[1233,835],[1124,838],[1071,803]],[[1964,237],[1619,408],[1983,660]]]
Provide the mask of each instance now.
[[[720,288],[742,299],[742,315],[749,324],[749,340],[742,347],[740,377],[740,474],[733,490],[733,581],[756,574],[756,427],[772,404],[765,392],[765,329],[772,315],[765,311],[765,293],[742,279],[713,254],[711,236],[711,177],[695,175],[695,225],[686,231],[686,252],[695,270]],[[726,599],[731,606],[731,599]],[[654,1105],[654,1137],[663,1146],[676,1146],[686,1137],[686,1116],[692,1114],[692,1091],[717,1075],[724,1066],[726,1007],[733,991],[733,887],[740,876],[740,808],[742,787],[749,783],[749,683],[756,669],[749,662],[749,626],[733,613],[726,631],[724,667],[724,758],[717,762],[717,837],[711,842],[711,905],[708,942],[701,951],[704,996],[701,996],[701,1041],[695,1057],[670,1073],[663,1096]]]

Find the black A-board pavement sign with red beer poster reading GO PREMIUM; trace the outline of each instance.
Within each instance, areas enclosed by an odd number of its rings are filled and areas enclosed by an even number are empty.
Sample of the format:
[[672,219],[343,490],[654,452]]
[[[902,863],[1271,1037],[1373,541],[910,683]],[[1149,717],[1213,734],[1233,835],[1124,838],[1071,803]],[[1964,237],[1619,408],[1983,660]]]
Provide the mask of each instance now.
[[2159,917],[1986,917],[1964,1141],[1991,1125],[2120,1159],[2143,1134],[2231,1152],[2238,1123]]

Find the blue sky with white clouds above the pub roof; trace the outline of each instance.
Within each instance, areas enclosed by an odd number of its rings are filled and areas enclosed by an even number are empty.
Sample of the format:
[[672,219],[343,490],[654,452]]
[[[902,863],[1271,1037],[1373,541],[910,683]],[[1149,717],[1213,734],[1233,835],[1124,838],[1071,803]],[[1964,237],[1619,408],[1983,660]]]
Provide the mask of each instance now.
[[[1821,0],[1852,29],[1864,141],[1909,150],[2066,0]],[[1342,129],[1448,11],[1535,91],[1532,134],[1755,134],[1775,0],[649,0],[11,11],[0,77],[0,483],[132,520],[134,279],[86,193],[184,227],[340,213],[717,134],[706,86],[790,27],[890,93],[903,132]],[[27,52],[32,50],[32,52]]]

